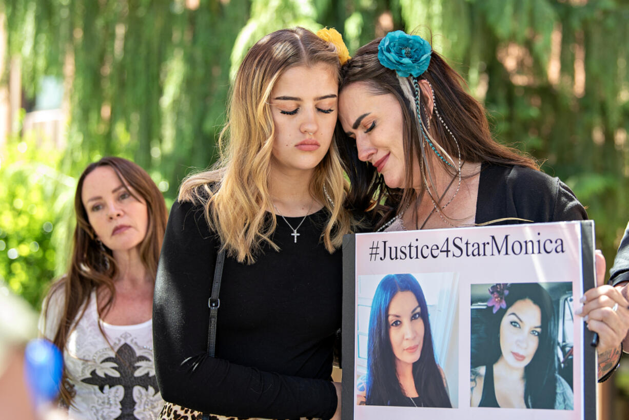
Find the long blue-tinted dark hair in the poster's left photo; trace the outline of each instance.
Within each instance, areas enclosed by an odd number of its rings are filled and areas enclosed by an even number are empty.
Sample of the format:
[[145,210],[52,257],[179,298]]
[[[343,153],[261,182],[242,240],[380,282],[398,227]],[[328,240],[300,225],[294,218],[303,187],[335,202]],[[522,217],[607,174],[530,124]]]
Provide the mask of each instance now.
[[408,406],[396,373],[395,355],[389,338],[389,305],[399,292],[413,292],[420,304],[424,341],[418,361],[413,363],[415,389],[425,407],[452,407],[439,372],[433,349],[428,307],[420,283],[409,274],[384,276],[376,288],[369,315],[367,343],[367,405]]

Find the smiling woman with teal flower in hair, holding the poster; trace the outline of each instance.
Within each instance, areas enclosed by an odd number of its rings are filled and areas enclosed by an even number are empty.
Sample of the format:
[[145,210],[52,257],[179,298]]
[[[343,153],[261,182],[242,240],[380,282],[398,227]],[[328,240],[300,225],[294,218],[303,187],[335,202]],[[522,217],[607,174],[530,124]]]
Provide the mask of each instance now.
[[[337,140],[351,183],[346,207],[375,210],[376,229],[587,219],[559,178],[493,139],[484,107],[423,38],[391,32],[359,48],[341,72]],[[620,360],[629,322],[614,310],[627,307],[625,298],[602,285],[602,254],[597,268],[601,286],[576,313],[588,315],[599,334],[600,378]]]

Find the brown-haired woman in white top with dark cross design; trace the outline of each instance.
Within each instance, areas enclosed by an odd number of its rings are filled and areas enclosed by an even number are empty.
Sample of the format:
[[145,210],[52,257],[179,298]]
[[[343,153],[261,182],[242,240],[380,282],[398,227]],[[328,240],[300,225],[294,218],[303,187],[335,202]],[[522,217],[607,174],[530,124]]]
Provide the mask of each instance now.
[[64,355],[70,419],[150,419],[163,405],[151,309],[167,210],[138,165],[103,157],[81,174],[68,273],[51,288],[40,330]]

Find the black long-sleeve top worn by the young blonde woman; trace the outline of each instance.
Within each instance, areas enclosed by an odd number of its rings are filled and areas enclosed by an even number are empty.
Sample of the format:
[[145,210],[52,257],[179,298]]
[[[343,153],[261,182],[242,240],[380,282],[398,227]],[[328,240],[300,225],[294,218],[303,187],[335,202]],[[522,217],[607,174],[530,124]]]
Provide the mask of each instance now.
[[[277,217],[274,251],[254,264],[225,258],[215,357],[207,355],[208,299],[218,239],[203,207],[175,202],[153,303],[155,372],[164,400],[238,417],[333,416],[330,382],[341,323],[341,253],[320,236],[325,210],[292,229]],[[297,227],[301,217],[287,217]]]

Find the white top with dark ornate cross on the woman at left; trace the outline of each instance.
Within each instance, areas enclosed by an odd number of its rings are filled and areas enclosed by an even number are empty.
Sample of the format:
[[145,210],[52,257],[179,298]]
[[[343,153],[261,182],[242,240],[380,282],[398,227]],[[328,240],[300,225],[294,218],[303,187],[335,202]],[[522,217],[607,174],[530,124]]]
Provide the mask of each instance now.
[[[50,297],[45,324],[43,314],[40,318],[40,332],[50,340],[57,331],[64,298],[63,292],[56,292]],[[70,419],[158,418],[164,402],[153,366],[152,320],[128,326],[106,324],[99,320],[96,292],[92,292],[85,314],[68,337],[64,363],[76,392]]]

